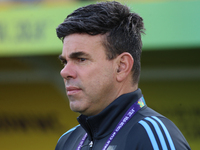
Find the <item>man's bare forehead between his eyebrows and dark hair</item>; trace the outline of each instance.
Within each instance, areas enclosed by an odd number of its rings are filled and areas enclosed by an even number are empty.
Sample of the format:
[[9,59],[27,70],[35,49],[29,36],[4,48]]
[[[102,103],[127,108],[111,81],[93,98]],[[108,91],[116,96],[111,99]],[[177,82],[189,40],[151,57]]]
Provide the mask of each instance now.
[[75,52],[105,54],[105,48],[102,43],[103,35],[71,34],[64,38],[62,55],[69,56]]

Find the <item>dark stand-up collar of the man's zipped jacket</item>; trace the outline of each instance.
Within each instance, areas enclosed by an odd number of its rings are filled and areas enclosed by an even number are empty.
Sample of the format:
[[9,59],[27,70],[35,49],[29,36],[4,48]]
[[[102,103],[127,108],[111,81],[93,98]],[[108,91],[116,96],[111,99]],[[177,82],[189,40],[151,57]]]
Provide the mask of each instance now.
[[126,111],[140,97],[142,97],[140,89],[131,93],[123,94],[98,115],[90,117],[80,115],[77,120],[87,132],[90,140],[101,139],[111,134]]

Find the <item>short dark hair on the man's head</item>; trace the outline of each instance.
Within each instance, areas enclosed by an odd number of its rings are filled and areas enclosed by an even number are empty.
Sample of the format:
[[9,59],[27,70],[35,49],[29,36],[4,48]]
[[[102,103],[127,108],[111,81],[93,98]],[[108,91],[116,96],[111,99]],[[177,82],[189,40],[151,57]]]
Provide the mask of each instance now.
[[144,30],[142,17],[131,13],[126,5],[116,1],[80,7],[68,15],[56,29],[61,40],[74,33],[105,34],[103,45],[108,59],[114,59],[123,52],[132,55],[134,83],[138,83],[140,77],[141,33]]

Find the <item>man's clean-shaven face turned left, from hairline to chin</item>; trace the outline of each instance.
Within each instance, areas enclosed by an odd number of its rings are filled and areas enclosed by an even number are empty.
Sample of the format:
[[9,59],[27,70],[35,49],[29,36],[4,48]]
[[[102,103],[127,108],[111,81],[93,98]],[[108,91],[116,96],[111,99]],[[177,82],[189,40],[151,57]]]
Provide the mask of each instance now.
[[107,59],[102,37],[66,36],[60,55],[70,108],[87,116],[100,113],[117,97],[116,61]]

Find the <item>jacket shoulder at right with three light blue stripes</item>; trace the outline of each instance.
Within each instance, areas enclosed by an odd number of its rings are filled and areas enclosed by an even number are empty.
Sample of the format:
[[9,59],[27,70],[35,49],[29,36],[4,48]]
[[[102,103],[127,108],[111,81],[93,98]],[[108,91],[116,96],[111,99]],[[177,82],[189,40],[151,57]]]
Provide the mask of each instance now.
[[131,129],[130,137],[134,137],[136,149],[190,149],[176,125],[162,115],[142,118]]

